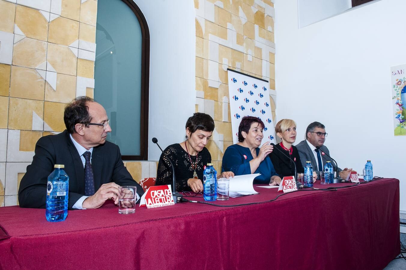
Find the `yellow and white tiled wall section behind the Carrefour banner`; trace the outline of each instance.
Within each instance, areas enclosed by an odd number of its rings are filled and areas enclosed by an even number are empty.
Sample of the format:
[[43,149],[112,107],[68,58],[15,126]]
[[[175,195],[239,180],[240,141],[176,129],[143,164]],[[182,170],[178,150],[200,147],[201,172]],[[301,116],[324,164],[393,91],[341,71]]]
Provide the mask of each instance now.
[[270,82],[275,120],[275,43],[273,0],[194,0],[196,11],[196,111],[213,117],[207,148],[221,170],[233,144],[227,68]]

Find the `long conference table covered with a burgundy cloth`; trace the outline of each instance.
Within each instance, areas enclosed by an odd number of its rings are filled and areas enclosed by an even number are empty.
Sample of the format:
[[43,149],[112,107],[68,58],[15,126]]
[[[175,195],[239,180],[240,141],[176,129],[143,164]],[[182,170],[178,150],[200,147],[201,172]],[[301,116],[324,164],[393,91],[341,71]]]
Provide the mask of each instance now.
[[2,207],[0,269],[382,269],[400,253],[399,180],[352,185],[255,185],[257,195],[214,201],[248,205],[137,205],[127,215],[108,201],[57,223],[45,209]]

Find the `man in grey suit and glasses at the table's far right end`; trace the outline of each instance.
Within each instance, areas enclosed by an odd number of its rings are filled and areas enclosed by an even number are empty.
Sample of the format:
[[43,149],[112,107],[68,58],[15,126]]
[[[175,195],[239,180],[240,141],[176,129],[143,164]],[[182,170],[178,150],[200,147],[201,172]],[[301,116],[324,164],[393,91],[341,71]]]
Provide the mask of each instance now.
[[[324,154],[326,153],[330,156],[328,148],[324,145],[326,137],[327,133],[324,124],[320,122],[313,122],[309,124],[309,126],[307,126],[306,139],[296,145],[303,167],[306,166],[306,161],[311,161],[313,171],[316,171],[317,173],[317,178],[320,178],[320,171],[324,171],[324,165],[326,165],[326,161],[331,161],[334,170],[336,167],[334,161]],[[339,175],[343,179],[347,178],[351,170],[352,169],[348,168],[345,168],[343,170],[338,168]]]

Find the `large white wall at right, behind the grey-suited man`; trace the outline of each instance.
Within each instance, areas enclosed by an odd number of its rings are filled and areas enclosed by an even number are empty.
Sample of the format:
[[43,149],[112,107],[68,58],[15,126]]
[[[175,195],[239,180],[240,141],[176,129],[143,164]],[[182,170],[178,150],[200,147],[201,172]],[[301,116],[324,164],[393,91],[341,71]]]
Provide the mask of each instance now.
[[400,180],[406,210],[406,136],[393,135],[390,67],[406,63],[404,0],[382,0],[298,29],[297,0],[275,3],[278,119],[326,125],[339,167]]

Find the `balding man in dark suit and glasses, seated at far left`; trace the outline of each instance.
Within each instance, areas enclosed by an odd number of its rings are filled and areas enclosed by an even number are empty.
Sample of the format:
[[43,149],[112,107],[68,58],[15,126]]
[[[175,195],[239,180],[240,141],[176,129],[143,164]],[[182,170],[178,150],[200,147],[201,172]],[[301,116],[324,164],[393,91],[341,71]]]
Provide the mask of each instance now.
[[119,147],[106,141],[111,128],[102,105],[80,96],[65,107],[63,118],[67,130],[37,141],[19,186],[21,207],[45,208],[47,178],[55,164],[65,165],[69,176],[69,209],[99,208],[107,199],[118,204],[119,186],[136,186],[137,197],[143,195],[124,167]]

